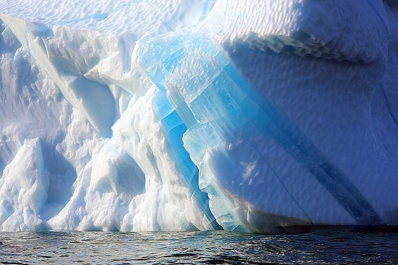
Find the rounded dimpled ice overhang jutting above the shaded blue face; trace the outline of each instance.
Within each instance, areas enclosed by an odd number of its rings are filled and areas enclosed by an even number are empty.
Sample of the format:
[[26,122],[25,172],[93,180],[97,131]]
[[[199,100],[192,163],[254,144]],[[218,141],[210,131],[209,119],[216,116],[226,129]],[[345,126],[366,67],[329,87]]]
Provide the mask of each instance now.
[[389,43],[383,2],[372,0],[219,0],[199,29],[226,46],[358,63],[386,58]]

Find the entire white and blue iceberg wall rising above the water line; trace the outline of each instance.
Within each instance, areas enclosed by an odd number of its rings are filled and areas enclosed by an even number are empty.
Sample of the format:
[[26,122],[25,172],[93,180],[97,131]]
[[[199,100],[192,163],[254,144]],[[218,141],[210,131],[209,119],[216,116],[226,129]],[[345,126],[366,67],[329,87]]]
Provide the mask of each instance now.
[[395,0],[0,0],[0,20],[0,230],[398,225]]

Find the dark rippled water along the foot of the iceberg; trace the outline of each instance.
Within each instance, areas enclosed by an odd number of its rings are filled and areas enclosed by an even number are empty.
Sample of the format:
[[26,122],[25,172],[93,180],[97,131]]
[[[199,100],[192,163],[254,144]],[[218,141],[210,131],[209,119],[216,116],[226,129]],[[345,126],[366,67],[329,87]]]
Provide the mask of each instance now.
[[397,233],[0,233],[0,263],[397,264]]

